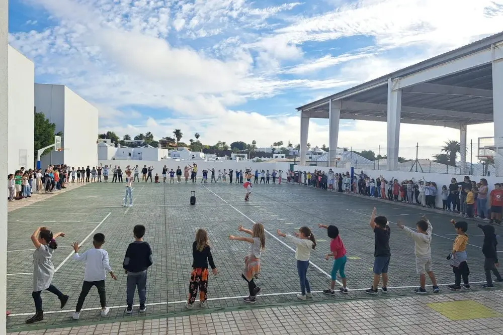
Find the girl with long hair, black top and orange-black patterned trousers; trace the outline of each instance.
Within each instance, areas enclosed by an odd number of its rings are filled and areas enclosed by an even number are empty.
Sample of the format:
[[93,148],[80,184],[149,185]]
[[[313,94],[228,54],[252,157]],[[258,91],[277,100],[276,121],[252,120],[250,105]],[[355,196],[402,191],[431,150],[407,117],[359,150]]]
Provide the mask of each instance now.
[[199,229],[196,233],[196,241],[192,244],[192,275],[189,283],[189,300],[185,307],[194,309],[197,289],[199,288],[199,301],[201,307],[206,307],[208,298],[208,262],[213,275],[216,276],[217,268],[213,262],[211,248],[208,242],[208,234],[204,229]]

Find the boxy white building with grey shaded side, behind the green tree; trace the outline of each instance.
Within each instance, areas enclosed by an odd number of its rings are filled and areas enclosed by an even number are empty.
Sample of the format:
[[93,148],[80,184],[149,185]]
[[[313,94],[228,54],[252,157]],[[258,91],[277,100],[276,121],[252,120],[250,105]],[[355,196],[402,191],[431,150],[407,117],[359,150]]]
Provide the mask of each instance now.
[[96,165],[98,160],[98,109],[65,85],[35,84],[35,108],[63,132],[62,152],[52,151],[41,159],[41,166]]

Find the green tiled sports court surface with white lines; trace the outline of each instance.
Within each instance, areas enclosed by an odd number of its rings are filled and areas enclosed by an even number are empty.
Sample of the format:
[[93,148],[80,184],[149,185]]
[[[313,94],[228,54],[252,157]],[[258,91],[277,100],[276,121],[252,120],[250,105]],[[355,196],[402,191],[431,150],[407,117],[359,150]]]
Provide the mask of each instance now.
[[[348,299],[380,299],[369,297],[365,289],[372,281],[374,235],[369,227],[369,215],[374,205],[378,214],[387,215],[390,222],[401,220],[415,228],[415,222],[427,214],[434,226],[432,256],[434,271],[441,284],[441,291],[448,291],[454,275],[446,256],[451,250],[455,231],[449,223],[450,216],[428,213],[421,208],[403,207],[395,203],[382,203],[367,198],[332,193],[300,185],[256,185],[250,202],[244,202],[244,189],[240,184],[133,184],[132,207],[123,207],[124,185],[118,183],[87,184],[74,190],[37,202],[9,213],[8,238],[8,318],[9,331],[31,328],[52,328],[69,325],[114,322],[138,317],[152,318],[159,315],[173,316],[251,308],[242,297],[247,295],[247,284],[241,278],[243,257],[248,245],[229,241],[228,235],[242,235],[237,227],[250,228],[254,222],[262,222],[267,230],[266,251],[262,257],[262,272],[257,284],[262,292],[253,308],[274,305],[294,305],[310,302]],[[190,192],[196,191],[197,203],[189,204]],[[141,315],[137,307],[133,314],[125,314],[126,275],[122,270],[124,253],[133,241],[134,225],[145,225],[147,241],[153,251],[154,264],[148,270],[147,311]],[[326,231],[318,224],[336,225],[347,249],[347,295],[324,296],[321,291],[330,282],[332,262],[325,261],[329,252]],[[34,313],[32,291],[32,232],[38,226],[48,226],[53,231],[63,231],[66,238],[58,240],[53,256],[56,267],[53,284],[70,300],[63,310],[59,301],[43,292],[45,319],[34,325],[26,325],[25,319]],[[308,279],[312,299],[297,299],[300,287],[295,260],[295,246],[278,238],[276,230],[292,234],[301,226],[313,230],[317,239],[316,251],[311,254]],[[186,311],[184,304],[192,265],[192,243],[198,228],[208,231],[218,275],[211,275],[208,283],[208,307],[199,305]],[[415,272],[414,246],[411,239],[391,223],[391,263],[389,269],[388,296],[413,294],[418,284]],[[83,242],[82,250],[92,248],[95,233],[106,236],[104,249],[110,256],[110,264],[118,276],[117,281],[106,280],[109,315],[101,317],[96,290],[88,295],[80,320],[71,319],[71,313],[80,292],[84,265],[72,260],[71,242]],[[496,227],[497,235],[502,235]],[[467,248],[470,281],[478,289],[485,279],[481,251],[482,231],[476,222],[469,223],[470,245]],[[427,282],[428,285],[429,281]],[[336,289],[339,285],[336,286]],[[431,286],[428,287],[429,294]],[[137,299],[137,297],[135,297]]]

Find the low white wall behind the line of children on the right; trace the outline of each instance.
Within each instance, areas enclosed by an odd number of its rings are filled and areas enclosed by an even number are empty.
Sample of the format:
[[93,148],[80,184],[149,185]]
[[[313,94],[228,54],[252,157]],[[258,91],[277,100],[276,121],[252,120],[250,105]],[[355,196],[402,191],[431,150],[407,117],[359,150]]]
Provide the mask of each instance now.
[[[324,172],[328,172],[328,167],[320,167],[320,166],[302,166],[295,165],[294,171],[310,171],[314,172],[314,170],[321,170]],[[331,168],[334,173],[346,173],[349,172],[351,174],[350,168]],[[355,176],[360,174],[362,169],[355,169]],[[384,171],[384,170],[370,170],[363,169],[363,172],[368,175],[370,178],[379,178],[382,175],[386,180],[390,180],[391,178],[397,179],[398,182],[402,182],[403,180],[408,180],[414,178],[415,181],[420,180],[422,178],[427,181],[434,181],[437,184],[439,190],[442,190],[442,186],[446,185],[449,187],[451,183],[451,178],[456,178],[458,182],[463,181],[463,175],[451,175],[451,174],[442,174],[442,173],[420,173],[420,172],[407,172],[407,171]],[[487,176],[470,176],[470,180],[475,180],[476,182],[480,181],[480,178],[485,178],[487,180],[489,186],[489,192],[494,188],[495,183],[503,183],[503,177],[487,177]],[[440,192],[439,192],[440,193]],[[437,207],[442,208],[442,197],[437,195],[436,198]]]

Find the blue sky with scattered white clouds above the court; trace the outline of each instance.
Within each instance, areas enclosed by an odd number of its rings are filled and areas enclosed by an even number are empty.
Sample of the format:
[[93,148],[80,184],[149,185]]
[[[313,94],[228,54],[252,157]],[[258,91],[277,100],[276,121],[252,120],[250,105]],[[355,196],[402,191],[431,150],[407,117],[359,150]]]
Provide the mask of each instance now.
[[[502,30],[503,0],[10,0],[36,82],[99,108],[100,132],[204,144],[300,141],[296,107]],[[468,127],[468,143],[492,136]],[[402,125],[400,156],[459,140]],[[308,142],[328,145],[328,121]],[[339,147],[385,152],[386,124],[341,121]],[[476,145],[475,145],[476,147]],[[384,151],[383,151],[384,150]]]

